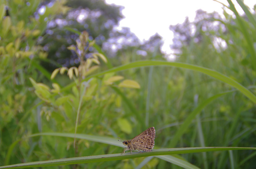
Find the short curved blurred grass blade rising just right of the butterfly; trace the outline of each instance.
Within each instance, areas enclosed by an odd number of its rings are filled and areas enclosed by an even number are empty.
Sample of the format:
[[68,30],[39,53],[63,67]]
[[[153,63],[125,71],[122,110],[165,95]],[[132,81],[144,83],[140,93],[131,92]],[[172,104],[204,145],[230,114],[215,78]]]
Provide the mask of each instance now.
[[[233,92],[233,91],[230,91]],[[189,114],[189,116],[186,118],[186,120],[183,122],[183,124],[180,126],[178,131],[175,133],[174,137],[172,138],[172,141],[170,143],[171,147],[175,147],[180,139],[180,137],[186,132],[189,125],[191,124],[192,120],[195,119],[195,116],[201,112],[204,107],[206,107],[209,103],[211,103],[213,100],[217,99],[218,97],[221,97],[223,95],[226,95],[230,92],[221,93],[218,95],[214,95],[212,97],[209,97],[207,100],[205,100],[203,103],[201,103],[199,106],[197,106],[192,113]]]

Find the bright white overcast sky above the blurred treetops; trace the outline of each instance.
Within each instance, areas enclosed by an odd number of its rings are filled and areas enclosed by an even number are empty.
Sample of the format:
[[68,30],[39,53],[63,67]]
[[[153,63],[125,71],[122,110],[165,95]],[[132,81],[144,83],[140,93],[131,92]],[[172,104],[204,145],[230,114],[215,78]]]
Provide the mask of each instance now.
[[[120,21],[120,27],[129,27],[140,40],[148,40],[155,33],[163,37],[162,51],[171,54],[169,47],[172,44],[173,34],[170,25],[183,23],[186,16],[190,21],[195,18],[195,11],[202,9],[207,12],[217,11],[222,14],[222,5],[213,0],[105,0],[108,4],[124,6],[122,14],[125,16]],[[228,5],[227,0],[219,0]],[[232,0],[239,13],[242,9],[235,0]],[[244,3],[253,8],[256,1],[244,0]],[[227,10],[227,12],[230,12]],[[232,14],[230,12],[230,14]]]

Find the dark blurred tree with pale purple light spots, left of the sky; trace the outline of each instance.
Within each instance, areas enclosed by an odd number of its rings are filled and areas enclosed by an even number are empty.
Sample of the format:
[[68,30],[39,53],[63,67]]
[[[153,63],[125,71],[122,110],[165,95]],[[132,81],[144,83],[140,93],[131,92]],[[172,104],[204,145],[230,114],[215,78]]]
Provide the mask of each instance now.
[[[41,9],[51,5],[52,1],[41,5]],[[86,30],[90,40],[95,39],[99,46],[105,42],[111,34],[113,26],[116,26],[123,18],[120,6],[110,6],[103,0],[69,0],[66,3],[70,11],[66,14],[55,15],[54,20],[48,23],[44,39],[40,42],[44,50],[49,53],[49,59],[42,65],[47,70],[53,70],[62,66],[78,66],[77,55],[67,46],[76,43],[77,32]],[[90,50],[93,50],[91,48]]]

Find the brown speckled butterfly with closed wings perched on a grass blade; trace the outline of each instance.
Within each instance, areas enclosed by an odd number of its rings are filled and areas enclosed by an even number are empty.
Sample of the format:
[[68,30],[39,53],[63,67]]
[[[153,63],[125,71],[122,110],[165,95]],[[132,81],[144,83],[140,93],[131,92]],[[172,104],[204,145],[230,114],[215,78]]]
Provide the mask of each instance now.
[[[140,135],[135,136],[131,140],[124,140],[122,143],[127,146],[122,153],[126,150],[139,150],[140,152],[151,152],[154,148],[154,137],[156,131],[154,127],[150,127],[142,132]],[[119,138],[119,137],[118,137]],[[122,140],[119,140],[122,141]]]

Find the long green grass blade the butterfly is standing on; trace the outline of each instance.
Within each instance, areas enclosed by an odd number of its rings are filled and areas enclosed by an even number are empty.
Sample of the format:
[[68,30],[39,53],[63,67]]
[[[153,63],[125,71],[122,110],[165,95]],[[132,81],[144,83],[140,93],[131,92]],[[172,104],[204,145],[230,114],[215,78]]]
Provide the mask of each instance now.
[[256,150],[252,147],[192,147],[192,148],[175,148],[175,149],[157,149],[152,152],[134,152],[125,154],[109,154],[109,155],[93,155],[87,157],[76,157],[76,158],[64,158],[58,160],[48,161],[36,161],[29,163],[20,163],[9,166],[1,166],[0,169],[9,168],[28,168],[28,167],[44,167],[44,166],[60,166],[70,165],[79,163],[99,163],[111,160],[124,160],[130,158],[140,158],[156,155],[174,155],[174,154],[185,154],[185,153],[196,153],[196,152],[212,152],[212,151],[224,151],[224,150]]

